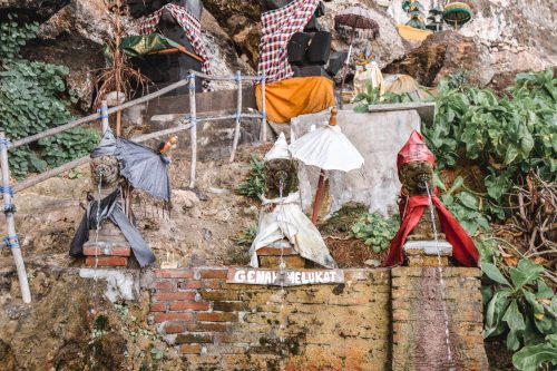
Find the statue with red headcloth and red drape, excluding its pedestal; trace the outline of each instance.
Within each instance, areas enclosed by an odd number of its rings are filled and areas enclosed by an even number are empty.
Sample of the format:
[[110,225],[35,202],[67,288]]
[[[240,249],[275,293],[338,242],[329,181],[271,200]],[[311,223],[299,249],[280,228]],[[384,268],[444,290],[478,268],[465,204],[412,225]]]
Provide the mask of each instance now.
[[[399,202],[402,223],[391,242],[389,255],[382,266],[401,265],[404,261],[402,246],[409,236],[411,237],[413,234],[414,237],[418,237],[419,235],[414,230],[419,230],[421,225],[431,226],[432,222],[428,215],[429,197],[427,189],[428,187],[429,189],[432,188],[432,170],[434,166],[433,154],[423,141],[423,136],[413,130],[397,156],[397,168],[402,183],[401,201]],[[429,186],[423,184],[424,182],[428,182]],[[440,235],[444,235],[447,242],[452,245],[453,262],[458,266],[478,266],[479,254],[472,240],[437,197],[437,188],[433,188],[431,193],[431,202],[437,214],[434,223],[440,228]],[[423,215],[423,213],[428,214]],[[418,237],[414,240],[432,238]]]

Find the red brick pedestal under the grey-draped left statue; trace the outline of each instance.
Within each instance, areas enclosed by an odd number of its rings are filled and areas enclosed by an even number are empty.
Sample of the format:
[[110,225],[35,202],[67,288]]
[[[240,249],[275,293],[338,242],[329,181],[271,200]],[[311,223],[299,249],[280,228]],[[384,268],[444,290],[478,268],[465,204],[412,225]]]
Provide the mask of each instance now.
[[89,241],[84,244],[85,265],[87,266],[127,266],[131,247],[121,231],[105,222],[98,231],[89,231]]

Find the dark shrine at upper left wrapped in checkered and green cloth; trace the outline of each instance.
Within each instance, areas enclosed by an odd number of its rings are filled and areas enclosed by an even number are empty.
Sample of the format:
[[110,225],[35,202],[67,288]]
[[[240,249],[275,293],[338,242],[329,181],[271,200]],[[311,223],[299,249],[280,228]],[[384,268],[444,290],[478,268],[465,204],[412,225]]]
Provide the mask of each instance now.
[[[137,19],[139,36],[123,38],[120,48],[155,89],[185,79],[190,69],[209,72],[201,38],[201,0],[128,0],[128,7]],[[202,89],[202,79],[196,77],[196,91]],[[187,94],[187,87],[169,92],[180,94]]]

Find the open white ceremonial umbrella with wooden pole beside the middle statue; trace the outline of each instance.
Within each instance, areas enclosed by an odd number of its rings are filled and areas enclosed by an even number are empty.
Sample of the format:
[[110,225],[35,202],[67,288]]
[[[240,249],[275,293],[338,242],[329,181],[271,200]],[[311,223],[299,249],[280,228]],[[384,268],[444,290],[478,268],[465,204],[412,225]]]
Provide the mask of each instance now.
[[313,224],[317,222],[319,208],[323,201],[325,172],[340,170],[348,173],[363,165],[362,155],[342,134],[341,128],[336,126],[336,114],[338,109],[333,108],[329,124],[307,133],[289,147],[293,158],[321,169],[313,202]]

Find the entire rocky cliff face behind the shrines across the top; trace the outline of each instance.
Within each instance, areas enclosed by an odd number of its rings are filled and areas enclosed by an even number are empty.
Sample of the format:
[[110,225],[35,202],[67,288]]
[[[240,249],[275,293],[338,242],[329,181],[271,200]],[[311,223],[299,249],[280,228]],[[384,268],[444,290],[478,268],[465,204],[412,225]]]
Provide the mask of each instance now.
[[[426,13],[436,0],[421,1]],[[434,85],[459,69],[472,71],[480,84],[505,80],[517,71],[539,70],[557,65],[557,4],[538,0],[467,0],[473,19],[459,30],[446,26],[421,45],[401,39],[397,25],[408,20],[400,1],[332,0],[325,3],[326,14],[320,18],[325,29],[333,30],[334,13],[363,4],[371,9],[381,36],[372,41],[387,71],[405,72],[421,84]],[[261,37],[261,8],[256,0],[205,0],[202,19],[215,74],[235,70],[254,72]],[[0,19],[17,12],[22,19],[41,22],[39,39],[26,48],[30,58],[65,64],[71,69],[70,87],[82,98],[87,110],[94,90],[92,71],[101,68],[101,43],[111,36],[113,14],[102,0],[4,0]],[[125,19],[125,27],[133,23]],[[334,50],[348,49],[346,39],[333,30]],[[355,51],[370,40],[358,39]],[[226,88],[227,86],[216,86]]]

